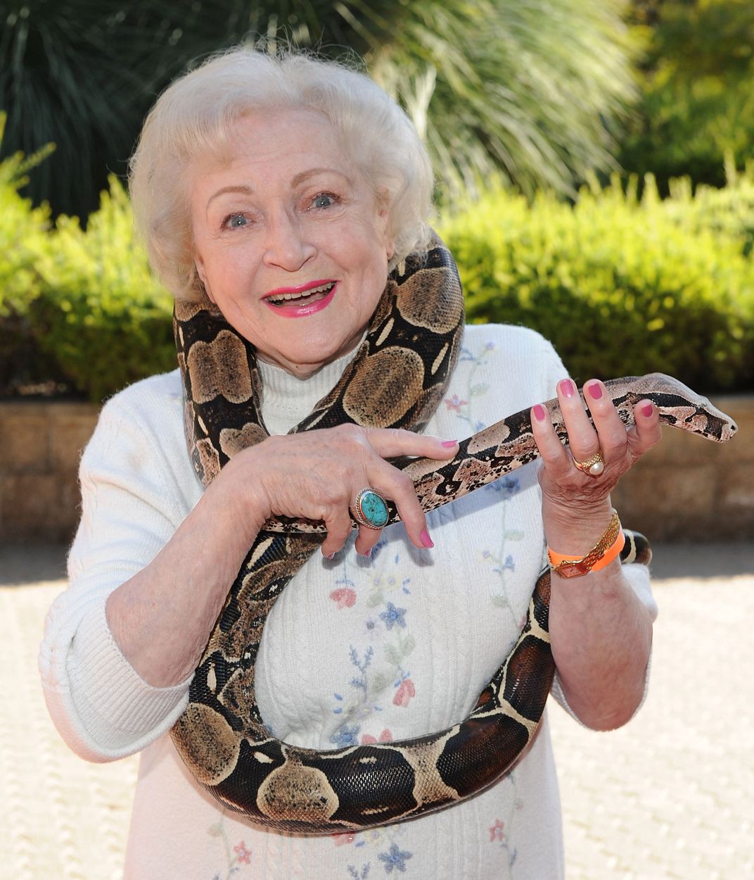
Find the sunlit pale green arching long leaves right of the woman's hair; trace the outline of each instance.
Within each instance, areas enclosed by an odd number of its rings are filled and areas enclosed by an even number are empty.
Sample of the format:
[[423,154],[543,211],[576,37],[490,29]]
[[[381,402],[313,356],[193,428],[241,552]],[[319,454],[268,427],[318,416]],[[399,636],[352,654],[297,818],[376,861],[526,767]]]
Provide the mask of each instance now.
[[[423,0],[409,4],[397,45],[367,57],[420,127],[429,118],[449,196],[495,168],[528,193],[542,185],[573,193],[592,169],[615,166],[610,130],[634,99],[623,6]],[[417,90],[423,70],[434,82],[428,106]]]

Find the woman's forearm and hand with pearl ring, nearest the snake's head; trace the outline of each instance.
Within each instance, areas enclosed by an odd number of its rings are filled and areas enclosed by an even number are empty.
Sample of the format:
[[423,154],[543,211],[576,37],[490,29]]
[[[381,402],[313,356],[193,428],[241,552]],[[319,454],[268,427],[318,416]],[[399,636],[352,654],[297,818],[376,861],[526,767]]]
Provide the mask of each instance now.
[[[545,407],[532,408],[532,428],[543,466],[542,521],[547,545],[578,559],[605,533],[612,516],[610,491],[620,476],[660,439],[650,400],[634,407],[635,425],[620,421],[605,385],[584,385],[584,402],[570,379],[557,387],[569,446],[562,445]],[[591,474],[574,462],[599,452],[604,468]],[[617,561],[584,577],[551,580],[549,633],[563,693],[584,724],[610,730],[634,714],[642,700],[652,621]]]

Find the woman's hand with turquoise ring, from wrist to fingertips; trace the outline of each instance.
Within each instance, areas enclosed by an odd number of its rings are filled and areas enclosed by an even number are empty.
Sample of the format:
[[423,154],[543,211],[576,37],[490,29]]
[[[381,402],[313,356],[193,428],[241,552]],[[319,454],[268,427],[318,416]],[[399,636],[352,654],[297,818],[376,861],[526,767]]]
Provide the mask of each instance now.
[[[395,502],[417,547],[431,547],[424,511],[410,478],[386,459],[402,456],[453,458],[455,441],[402,429],[337,428],[271,436],[239,452],[209,490],[228,494],[254,532],[270,517],[306,517],[327,527],[322,552],[336,554],[352,531],[351,508],[363,488]],[[359,526],[356,549],[368,555],[381,530]]]

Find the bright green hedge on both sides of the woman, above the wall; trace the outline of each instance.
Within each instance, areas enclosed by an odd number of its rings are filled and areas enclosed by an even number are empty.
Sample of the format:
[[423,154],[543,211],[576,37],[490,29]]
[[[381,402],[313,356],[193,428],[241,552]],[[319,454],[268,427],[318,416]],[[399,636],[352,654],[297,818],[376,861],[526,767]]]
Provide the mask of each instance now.
[[[19,160],[20,161],[20,160]],[[50,226],[0,164],[0,394],[40,383],[101,400],[175,364],[171,299],[134,242],[115,178],[86,231]],[[16,166],[16,172],[20,165]],[[572,207],[503,190],[440,217],[468,319],[532,326],[574,378],[653,370],[700,391],[754,386],[754,172],[660,200],[651,179]]]

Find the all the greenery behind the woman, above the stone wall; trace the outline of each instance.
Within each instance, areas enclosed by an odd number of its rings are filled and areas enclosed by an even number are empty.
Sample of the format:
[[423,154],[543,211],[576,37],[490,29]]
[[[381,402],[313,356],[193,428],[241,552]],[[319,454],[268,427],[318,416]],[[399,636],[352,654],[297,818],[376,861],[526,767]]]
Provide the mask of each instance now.
[[359,55],[407,109],[469,319],[579,378],[754,385],[750,0],[0,3],[0,395],[172,369],[127,158],[172,78],[259,39]]

